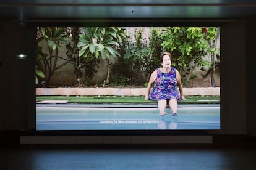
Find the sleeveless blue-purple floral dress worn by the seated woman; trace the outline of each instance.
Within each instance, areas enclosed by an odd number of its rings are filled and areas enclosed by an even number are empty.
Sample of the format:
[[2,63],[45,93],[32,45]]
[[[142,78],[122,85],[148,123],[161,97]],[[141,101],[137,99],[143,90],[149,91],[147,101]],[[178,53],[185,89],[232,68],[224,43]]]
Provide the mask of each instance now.
[[150,100],[168,100],[179,99],[179,90],[177,89],[176,69],[171,67],[168,73],[163,73],[160,68],[156,69],[157,78],[150,91]]

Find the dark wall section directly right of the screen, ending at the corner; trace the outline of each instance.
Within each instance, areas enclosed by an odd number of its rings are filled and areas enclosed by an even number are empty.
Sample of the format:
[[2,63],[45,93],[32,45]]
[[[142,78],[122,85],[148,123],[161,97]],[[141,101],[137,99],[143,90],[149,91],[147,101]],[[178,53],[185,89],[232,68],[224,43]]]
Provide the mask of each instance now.
[[221,26],[221,128],[246,132],[246,21]]

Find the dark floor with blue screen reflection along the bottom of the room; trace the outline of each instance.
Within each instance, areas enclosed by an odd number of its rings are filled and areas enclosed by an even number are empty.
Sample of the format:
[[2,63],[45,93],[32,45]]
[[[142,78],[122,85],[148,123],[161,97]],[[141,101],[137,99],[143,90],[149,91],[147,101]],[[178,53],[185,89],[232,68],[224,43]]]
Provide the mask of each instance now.
[[256,169],[255,147],[3,147],[0,169]]

